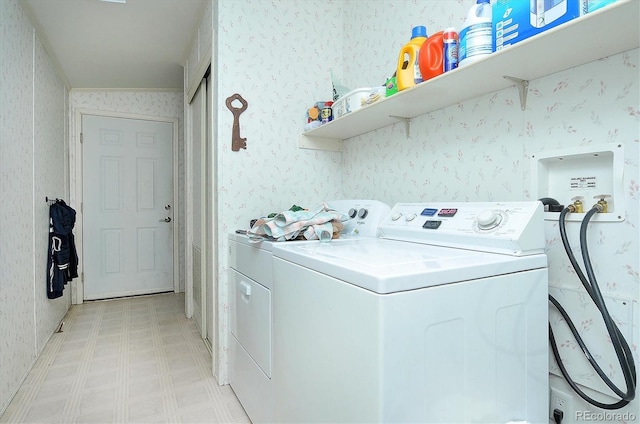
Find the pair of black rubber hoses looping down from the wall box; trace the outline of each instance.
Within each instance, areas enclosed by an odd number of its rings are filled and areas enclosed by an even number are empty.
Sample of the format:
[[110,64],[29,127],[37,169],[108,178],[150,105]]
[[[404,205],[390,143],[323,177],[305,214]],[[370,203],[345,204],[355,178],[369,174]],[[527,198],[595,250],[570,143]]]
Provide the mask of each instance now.
[[576,258],[573,255],[573,252],[571,251],[571,247],[569,246],[569,242],[567,240],[565,218],[567,213],[569,213],[569,208],[563,209],[562,212],[560,213],[560,220],[559,220],[560,236],[562,238],[562,244],[564,245],[564,249],[567,252],[567,255],[569,256],[569,260],[571,261],[571,265],[576,270],[576,274],[578,275],[578,278],[580,278],[582,285],[587,290],[587,293],[589,293],[591,300],[593,300],[593,303],[596,305],[596,307],[600,311],[600,314],[602,315],[602,319],[607,328],[607,332],[611,337],[611,342],[616,352],[616,356],[618,357],[620,368],[622,369],[622,374],[624,376],[624,381],[626,384],[626,391],[622,391],[620,388],[618,388],[613,383],[613,381],[611,381],[611,379],[605,374],[605,372],[598,365],[598,363],[595,361],[595,359],[593,358],[593,355],[591,355],[591,353],[589,352],[589,349],[587,349],[587,346],[582,340],[582,337],[580,337],[580,334],[578,333],[575,325],[569,318],[569,314],[567,314],[567,311],[562,307],[562,305],[560,305],[560,303],[551,295],[549,295],[549,301],[556,307],[558,312],[560,312],[562,317],[565,319],[567,325],[571,329],[571,333],[575,337],[576,341],[578,342],[578,345],[582,349],[584,355],[586,356],[587,360],[589,361],[593,369],[598,373],[602,381],[604,381],[604,383],[616,394],[616,396],[620,398],[620,400],[615,403],[602,403],[589,397],[578,387],[576,382],[571,379],[571,376],[569,375],[567,369],[565,368],[562,362],[562,358],[560,357],[560,352],[558,351],[558,346],[556,345],[555,337],[553,335],[553,330],[551,329],[551,323],[549,323],[549,342],[551,344],[551,350],[553,351],[553,356],[556,362],[558,363],[558,366],[560,367],[560,371],[562,372],[562,375],[567,380],[567,383],[569,383],[571,388],[582,399],[584,399],[585,401],[589,402],[594,406],[597,406],[598,408],[620,409],[625,405],[629,404],[629,402],[631,402],[635,398],[636,367],[633,360],[633,355],[631,353],[631,349],[629,349],[629,344],[625,340],[624,336],[620,332],[620,329],[618,328],[616,323],[613,321],[613,319],[611,318],[611,315],[609,314],[609,311],[607,310],[607,306],[604,302],[604,298],[602,297],[602,293],[600,292],[600,288],[598,287],[598,283],[596,281],[596,277],[593,272],[593,267],[591,266],[591,260],[589,258],[589,252],[587,247],[587,226],[589,224],[589,221],[591,220],[591,217],[593,217],[593,215],[595,215],[597,212],[598,212],[598,209],[595,207],[592,208],[589,212],[587,212],[584,219],[582,220],[582,225],[580,226],[580,246],[582,248],[582,259],[583,259],[586,274],[587,274],[586,277],[582,272],[580,265],[576,261]]

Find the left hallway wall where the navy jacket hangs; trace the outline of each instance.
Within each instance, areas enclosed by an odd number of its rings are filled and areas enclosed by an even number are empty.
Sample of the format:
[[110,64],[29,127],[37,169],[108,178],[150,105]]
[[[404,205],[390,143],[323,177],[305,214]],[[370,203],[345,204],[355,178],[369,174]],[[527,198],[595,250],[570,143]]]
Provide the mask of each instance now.
[[[49,208],[68,201],[67,89],[18,2],[0,2],[0,412],[70,305],[46,295]],[[73,205],[71,205],[73,206]]]

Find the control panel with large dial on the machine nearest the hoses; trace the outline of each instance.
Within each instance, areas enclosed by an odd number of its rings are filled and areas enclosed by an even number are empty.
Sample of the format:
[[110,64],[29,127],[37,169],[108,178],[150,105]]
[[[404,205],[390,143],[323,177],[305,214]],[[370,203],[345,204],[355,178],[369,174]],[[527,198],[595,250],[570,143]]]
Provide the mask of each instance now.
[[509,255],[543,253],[543,206],[532,202],[398,203],[383,238]]

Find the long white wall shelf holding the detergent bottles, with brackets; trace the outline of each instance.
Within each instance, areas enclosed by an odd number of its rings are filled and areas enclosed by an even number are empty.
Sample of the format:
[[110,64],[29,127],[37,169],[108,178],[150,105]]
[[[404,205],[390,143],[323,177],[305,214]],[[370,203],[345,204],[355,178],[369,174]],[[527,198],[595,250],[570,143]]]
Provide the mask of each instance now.
[[618,0],[307,131],[298,146],[339,150],[341,140],[514,85],[524,110],[529,81],[640,47],[639,17],[640,1]]

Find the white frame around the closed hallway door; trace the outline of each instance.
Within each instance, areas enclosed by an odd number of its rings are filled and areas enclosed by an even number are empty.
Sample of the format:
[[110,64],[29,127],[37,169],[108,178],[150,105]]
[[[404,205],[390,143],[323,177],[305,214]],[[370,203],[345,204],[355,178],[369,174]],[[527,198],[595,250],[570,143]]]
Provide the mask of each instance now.
[[[172,177],[173,177],[173,291],[175,293],[180,291],[180,226],[179,226],[179,210],[178,207],[178,119],[162,116],[149,116],[133,113],[111,112],[91,109],[76,109],[75,111],[75,145],[73,150],[75,152],[75,201],[76,205],[76,224],[74,227],[76,250],[81,254],[84,245],[83,240],[83,228],[82,228],[82,204],[83,204],[83,186],[84,186],[84,174],[83,170],[83,158],[82,158],[82,117],[83,115],[93,115],[107,118],[122,118],[122,119],[138,119],[143,121],[155,121],[155,122],[169,122],[173,125],[173,141],[172,141]],[[78,261],[78,275],[79,279],[71,281],[71,303],[81,304],[84,302],[84,265],[82,256]]]

